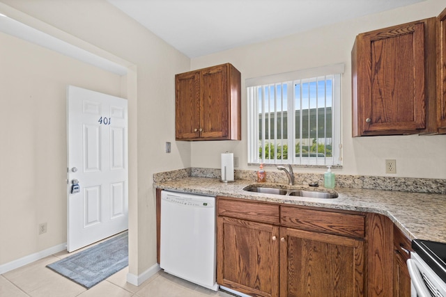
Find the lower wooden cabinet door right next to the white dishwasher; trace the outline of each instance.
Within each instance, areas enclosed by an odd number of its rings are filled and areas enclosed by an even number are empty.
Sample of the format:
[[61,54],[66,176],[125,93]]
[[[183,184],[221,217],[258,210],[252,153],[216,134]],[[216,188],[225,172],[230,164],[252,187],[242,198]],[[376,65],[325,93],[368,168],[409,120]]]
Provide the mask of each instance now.
[[217,283],[249,296],[279,296],[279,227],[217,218]]

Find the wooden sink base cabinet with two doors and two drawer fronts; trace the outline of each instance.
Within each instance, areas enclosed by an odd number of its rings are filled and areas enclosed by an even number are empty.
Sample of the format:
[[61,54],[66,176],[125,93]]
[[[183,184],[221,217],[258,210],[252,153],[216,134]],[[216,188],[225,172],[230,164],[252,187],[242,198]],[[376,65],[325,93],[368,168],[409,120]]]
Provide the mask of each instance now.
[[363,234],[364,216],[226,199],[217,198],[218,284],[249,296],[364,296],[364,238],[339,235]]

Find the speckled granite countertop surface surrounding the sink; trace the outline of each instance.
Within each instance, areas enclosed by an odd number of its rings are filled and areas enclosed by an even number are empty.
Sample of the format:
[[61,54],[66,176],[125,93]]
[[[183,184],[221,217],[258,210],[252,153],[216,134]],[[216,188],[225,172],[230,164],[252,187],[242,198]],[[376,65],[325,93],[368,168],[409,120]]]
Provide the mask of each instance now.
[[[168,182],[155,182],[156,188],[204,195],[221,195],[247,200],[295,204],[328,209],[365,211],[389,217],[410,239],[427,239],[446,243],[446,195],[378,191],[358,188],[334,188],[339,195],[334,199],[302,198],[244,191],[245,186],[257,184],[248,180],[222,183],[220,179],[184,177]],[[289,188],[286,184],[268,184]],[[311,188],[296,185],[293,189],[333,191],[323,186]]]

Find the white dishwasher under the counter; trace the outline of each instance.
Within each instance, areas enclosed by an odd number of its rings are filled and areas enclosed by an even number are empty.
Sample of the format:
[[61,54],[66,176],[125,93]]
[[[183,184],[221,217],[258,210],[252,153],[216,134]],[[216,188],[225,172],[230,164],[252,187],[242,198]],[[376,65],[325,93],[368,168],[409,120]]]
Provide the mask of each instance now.
[[215,197],[161,192],[160,266],[217,291]]

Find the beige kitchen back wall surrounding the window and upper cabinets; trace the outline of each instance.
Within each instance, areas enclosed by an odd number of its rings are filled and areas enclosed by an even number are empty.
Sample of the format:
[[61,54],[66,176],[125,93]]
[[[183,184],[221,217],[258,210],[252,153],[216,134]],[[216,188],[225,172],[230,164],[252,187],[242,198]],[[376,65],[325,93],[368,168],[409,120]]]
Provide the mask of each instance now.
[[[351,49],[358,33],[436,17],[445,2],[428,0],[386,13],[360,17],[348,22],[324,26],[256,45],[223,51],[192,59],[192,69],[220,63],[232,63],[242,73],[242,141],[192,143],[192,166],[219,168],[220,153],[229,150],[238,156],[240,168],[247,166],[247,106],[245,79],[345,63],[342,78],[342,134],[344,166],[334,170],[346,175],[385,176],[385,159],[397,160],[397,176],[446,178],[445,136],[351,137]],[[433,54],[433,53],[432,53]],[[250,169],[254,169],[251,167]],[[266,168],[274,170],[274,168]],[[295,172],[325,170],[295,169]],[[389,175],[395,176],[395,175]]]

